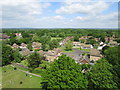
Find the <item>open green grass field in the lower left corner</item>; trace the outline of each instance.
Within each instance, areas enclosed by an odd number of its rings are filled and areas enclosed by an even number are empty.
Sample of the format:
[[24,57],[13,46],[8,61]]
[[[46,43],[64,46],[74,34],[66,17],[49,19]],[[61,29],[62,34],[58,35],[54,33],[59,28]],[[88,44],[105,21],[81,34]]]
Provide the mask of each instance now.
[[[6,72],[5,72],[6,71]],[[3,88],[40,88],[41,78],[14,70],[10,65],[3,67],[2,87]],[[22,84],[20,84],[22,82]]]

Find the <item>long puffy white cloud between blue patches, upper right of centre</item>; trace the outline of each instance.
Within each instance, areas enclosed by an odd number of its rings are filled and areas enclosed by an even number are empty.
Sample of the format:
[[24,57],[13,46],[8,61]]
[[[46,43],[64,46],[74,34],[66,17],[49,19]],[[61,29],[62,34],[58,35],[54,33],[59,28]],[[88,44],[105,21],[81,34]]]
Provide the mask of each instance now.
[[[88,0],[90,1],[90,0]],[[57,9],[57,14],[100,14],[106,10],[109,5],[103,1],[98,2],[65,2],[63,6]]]

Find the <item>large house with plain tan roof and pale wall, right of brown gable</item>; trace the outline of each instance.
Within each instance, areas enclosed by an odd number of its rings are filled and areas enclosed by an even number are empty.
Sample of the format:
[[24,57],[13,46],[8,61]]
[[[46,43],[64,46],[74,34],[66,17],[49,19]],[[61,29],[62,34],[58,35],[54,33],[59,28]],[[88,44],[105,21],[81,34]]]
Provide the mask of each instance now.
[[100,51],[97,49],[91,49],[90,50],[90,61],[97,61],[102,57],[100,54]]

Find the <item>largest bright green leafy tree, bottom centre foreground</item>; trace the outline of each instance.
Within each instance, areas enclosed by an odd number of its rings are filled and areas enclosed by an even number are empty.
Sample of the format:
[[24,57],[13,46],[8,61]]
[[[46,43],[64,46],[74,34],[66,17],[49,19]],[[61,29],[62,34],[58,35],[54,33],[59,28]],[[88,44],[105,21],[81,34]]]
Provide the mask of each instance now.
[[81,73],[79,64],[62,55],[51,64],[43,76],[42,87],[48,88],[87,88],[87,79]]

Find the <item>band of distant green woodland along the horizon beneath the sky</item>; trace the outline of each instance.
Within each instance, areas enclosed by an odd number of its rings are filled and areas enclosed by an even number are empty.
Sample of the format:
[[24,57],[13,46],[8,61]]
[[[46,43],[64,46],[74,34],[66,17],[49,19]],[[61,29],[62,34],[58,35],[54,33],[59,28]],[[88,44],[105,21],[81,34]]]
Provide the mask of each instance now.
[[51,37],[67,37],[67,36],[112,36],[119,37],[119,30],[99,30],[99,29],[29,29],[29,30],[7,30],[3,29],[3,33],[7,33],[10,36],[13,36],[13,33],[22,33],[23,37],[29,36],[28,34],[37,34],[38,36],[51,36]]

